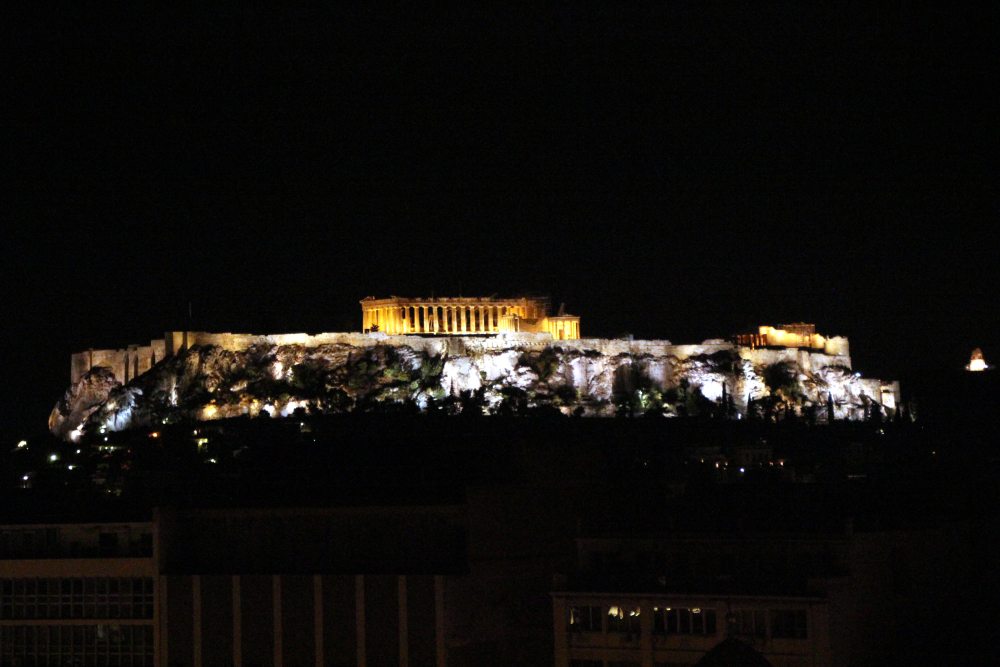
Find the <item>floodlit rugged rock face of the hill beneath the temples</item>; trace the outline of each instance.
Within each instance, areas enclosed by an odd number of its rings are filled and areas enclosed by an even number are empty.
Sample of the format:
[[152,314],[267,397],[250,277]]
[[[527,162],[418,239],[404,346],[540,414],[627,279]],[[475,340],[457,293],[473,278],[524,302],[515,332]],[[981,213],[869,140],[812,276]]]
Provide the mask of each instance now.
[[879,382],[846,355],[749,348],[723,341],[583,339],[532,334],[428,339],[370,334],[298,344],[261,337],[245,347],[195,345],[121,385],[86,373],[53,409],[49,428],[122,430],[164,420],[352,410],[559,411],[822,421],[883,413]]

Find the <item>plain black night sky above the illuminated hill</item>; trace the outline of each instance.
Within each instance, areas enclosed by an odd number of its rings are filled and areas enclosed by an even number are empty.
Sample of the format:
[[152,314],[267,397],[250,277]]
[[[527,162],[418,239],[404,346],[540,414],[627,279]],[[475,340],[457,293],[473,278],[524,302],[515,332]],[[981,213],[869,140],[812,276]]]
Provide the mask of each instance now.
[[995,6],[466,4],[3,10],[0,431],[73,351],[352,330],[368,294],[1000,359]]

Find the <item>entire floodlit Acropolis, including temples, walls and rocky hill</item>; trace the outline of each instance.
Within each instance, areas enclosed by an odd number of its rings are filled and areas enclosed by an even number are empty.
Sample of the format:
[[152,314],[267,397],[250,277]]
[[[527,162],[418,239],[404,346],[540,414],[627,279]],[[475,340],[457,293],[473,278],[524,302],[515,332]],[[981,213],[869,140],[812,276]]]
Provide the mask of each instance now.
[[359,403],[427,410],[473,394],[487,414],[524,400],[583,416],[629,405],[633,413],[744,418],[785,405],[810,419],[858,420],[900,405],[898,382],[862,377],[847,338],[810,323],[675,344],[583,338],[580,317],[562,307],[553,315],[542,297],[369,296],[360,305],[355,332],[168,331],[148,345],[76,353],[73,386],[50,429],[73,439],[91,415],[118,430],[181,408],[195,419]]

